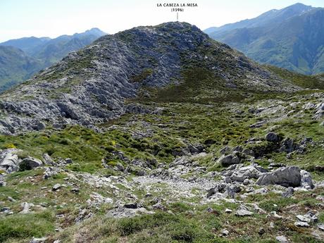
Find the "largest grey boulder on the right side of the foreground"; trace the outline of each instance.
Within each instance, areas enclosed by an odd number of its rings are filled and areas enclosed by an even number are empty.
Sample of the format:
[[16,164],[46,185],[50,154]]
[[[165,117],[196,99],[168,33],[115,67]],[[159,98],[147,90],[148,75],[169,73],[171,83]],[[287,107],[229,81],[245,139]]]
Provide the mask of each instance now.
[[301,186],[301,170],[297,166],[278,168],[258,177],[257,185],[282,185],[283,187]]

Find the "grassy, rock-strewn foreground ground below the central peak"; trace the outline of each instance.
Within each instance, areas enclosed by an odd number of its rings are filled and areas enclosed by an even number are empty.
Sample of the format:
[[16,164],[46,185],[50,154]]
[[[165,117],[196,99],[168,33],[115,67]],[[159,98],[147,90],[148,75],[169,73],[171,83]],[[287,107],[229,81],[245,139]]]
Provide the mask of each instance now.
[[132,103],[0,136],[2,242],[324,242],[324,95]]

